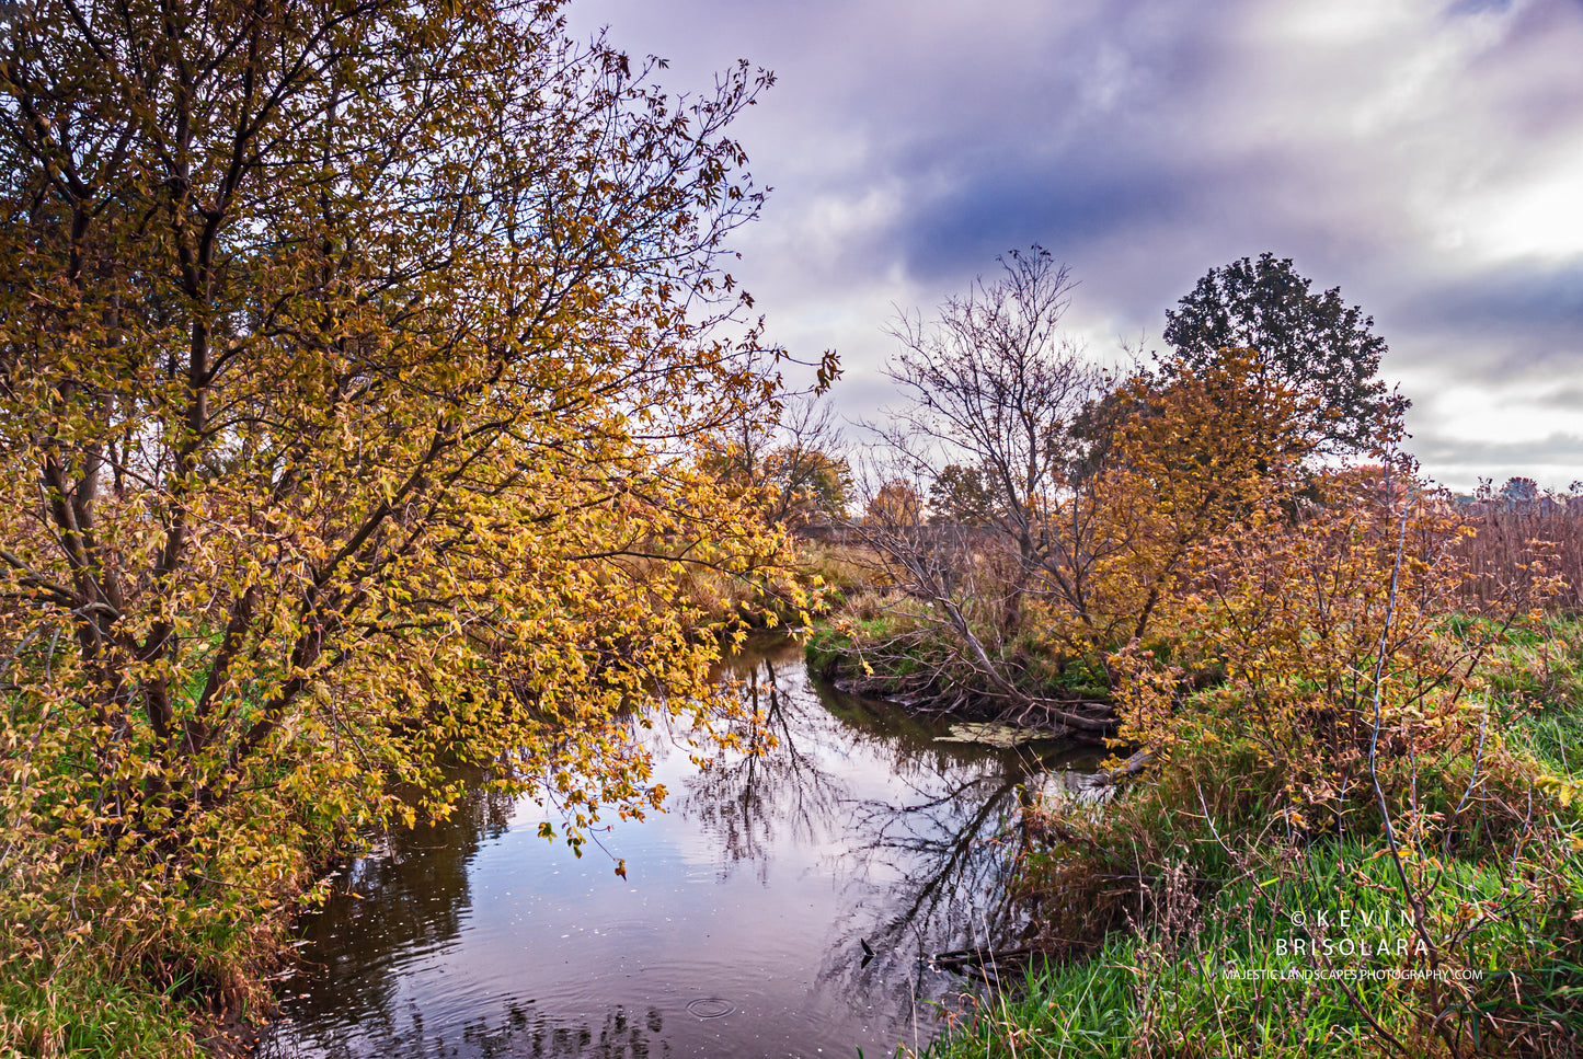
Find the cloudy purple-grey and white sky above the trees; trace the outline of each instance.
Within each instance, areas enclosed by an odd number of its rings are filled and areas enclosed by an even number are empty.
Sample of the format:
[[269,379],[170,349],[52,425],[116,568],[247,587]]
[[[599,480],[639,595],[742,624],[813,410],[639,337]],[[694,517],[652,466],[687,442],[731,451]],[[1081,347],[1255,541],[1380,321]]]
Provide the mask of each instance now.
[[1425,470],[1583,478],[1583,0],[573,0],[711,84],[774,192],[738,241],[771,337],[871,415],[896,307],[1042,244],[1105,362],[1271,250],[1390,344]]

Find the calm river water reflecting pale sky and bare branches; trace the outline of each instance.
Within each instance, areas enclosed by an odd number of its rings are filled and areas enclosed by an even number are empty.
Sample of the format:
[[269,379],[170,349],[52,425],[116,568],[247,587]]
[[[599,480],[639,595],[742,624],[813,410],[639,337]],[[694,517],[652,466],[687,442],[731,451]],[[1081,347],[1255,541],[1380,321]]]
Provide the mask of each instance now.
[[483,791],[393,837],[304,918],[260,1054],[874,1059],[926,1045],[967,988],[929,956],[1015,939],[1019,812],[1064,758],[940,741],[945,725],[812,681],[787,640],[727,671],[768,711],[765,757],[700,771],[646,733],[670,810],[616,823],[581,858],[537,836],[532,798]]

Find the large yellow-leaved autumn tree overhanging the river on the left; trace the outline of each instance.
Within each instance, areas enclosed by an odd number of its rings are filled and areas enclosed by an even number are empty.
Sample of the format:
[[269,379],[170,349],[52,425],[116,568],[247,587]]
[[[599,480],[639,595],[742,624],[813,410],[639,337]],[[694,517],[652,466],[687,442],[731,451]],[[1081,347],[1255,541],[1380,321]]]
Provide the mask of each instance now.
[[559,8],[9,13],[6,848],[177,907],[410,815],[391,780],[443,810],[446,761],[573,836],[662,796],[622,715],[712,698],[679,573],[780,548],[693,457],[773,396],[712,329],[769,76],[671,98]]

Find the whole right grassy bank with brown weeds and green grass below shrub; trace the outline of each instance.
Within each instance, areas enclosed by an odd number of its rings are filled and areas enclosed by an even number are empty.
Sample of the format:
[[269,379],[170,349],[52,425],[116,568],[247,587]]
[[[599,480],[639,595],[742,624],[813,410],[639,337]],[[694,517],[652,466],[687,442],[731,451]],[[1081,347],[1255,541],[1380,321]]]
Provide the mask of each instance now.
[[1475,741],[1377,763],[1327,823],[1347,795],[1293,798],[1224,715],[1116,803],[1046,806],[1023,885],[1051,959],[926,1054],[1577,1054],[1583,624],[1477,678]]

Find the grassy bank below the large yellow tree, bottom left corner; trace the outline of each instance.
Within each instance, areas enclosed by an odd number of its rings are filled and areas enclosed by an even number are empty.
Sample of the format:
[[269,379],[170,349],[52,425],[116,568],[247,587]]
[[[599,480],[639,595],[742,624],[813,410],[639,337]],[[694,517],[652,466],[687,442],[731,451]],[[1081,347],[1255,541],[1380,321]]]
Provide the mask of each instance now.
[[[70,761],[52,761],[55,768]],[[36,777],[46,791],[66,774]],[[24,801],[6,787],[8,807]],[[82,853],[73,806],[8,820],[0,874],[0,1056],[165,1059],[230,1054],[272,1008],[315,864],[350,850],[350,820],[290,796],[252,798],[179,852]],[[318,812],[313,812],[318,810]]]

